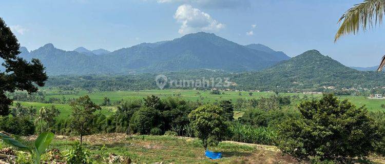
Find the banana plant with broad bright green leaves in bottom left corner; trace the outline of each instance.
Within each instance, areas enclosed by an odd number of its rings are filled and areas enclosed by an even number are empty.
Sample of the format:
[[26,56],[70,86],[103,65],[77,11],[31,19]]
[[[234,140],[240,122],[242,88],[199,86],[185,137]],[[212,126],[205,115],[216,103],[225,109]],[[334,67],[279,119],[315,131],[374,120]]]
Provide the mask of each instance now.
[[24,144],[18,142],[17,140],[9,137],[8,135],[0,133],[0,139],[2,139],[4,142],[6,142],[9,145],[12,145],[17,148],[25,149],[31,152],[32,150],[35,150],[36,156],[34,157],[35,164],[40,164],[40,157],[43,153],[45,153],[47,147],[51,144],[51,141],[55,135],[52,132],[43,132],[41,133],[34,142],[34,148],[29,148],[25,146]]

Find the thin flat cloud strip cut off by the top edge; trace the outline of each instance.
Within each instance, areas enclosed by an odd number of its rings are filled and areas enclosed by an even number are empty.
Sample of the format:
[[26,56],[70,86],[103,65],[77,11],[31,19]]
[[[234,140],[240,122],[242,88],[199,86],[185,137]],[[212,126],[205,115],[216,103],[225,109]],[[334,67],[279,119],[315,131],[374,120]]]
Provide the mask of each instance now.
[[191,4],[204,8],[238,8],[249,7],[249,0],[157,0],[158,3]]

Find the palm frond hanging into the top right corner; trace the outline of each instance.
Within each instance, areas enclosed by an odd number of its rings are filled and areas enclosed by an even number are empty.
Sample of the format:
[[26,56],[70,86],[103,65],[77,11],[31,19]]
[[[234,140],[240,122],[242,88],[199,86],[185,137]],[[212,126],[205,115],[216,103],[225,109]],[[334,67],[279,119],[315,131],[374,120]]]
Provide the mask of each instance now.
[[356,34],[360,30],[366,30],[373,27],[373,24],[382,24],[382,16],[385,13],[385,0],[365,0],[363,3],[354,5],[345,12],[338,23],[341,23],[334,42],[341,36],[347,34]]

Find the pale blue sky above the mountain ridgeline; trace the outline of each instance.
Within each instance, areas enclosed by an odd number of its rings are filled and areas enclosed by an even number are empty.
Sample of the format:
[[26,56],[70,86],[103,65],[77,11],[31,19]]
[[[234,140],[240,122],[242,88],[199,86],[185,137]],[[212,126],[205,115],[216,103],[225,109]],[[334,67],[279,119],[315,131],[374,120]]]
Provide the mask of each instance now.
[[362,1],[0,0],[0,17],[28,50],[52,43],[63,50],[113,51],[204,31],[291,57],[316,49],[346,66],[369,67],[385,54],[382,26],[334,43],[339,17]]

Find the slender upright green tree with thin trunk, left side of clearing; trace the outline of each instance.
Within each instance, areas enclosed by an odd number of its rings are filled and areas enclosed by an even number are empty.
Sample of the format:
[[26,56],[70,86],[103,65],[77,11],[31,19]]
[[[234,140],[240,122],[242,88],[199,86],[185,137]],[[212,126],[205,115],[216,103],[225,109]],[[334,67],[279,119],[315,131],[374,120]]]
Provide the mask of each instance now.
[[91,132],[94,112],[101,108],[94,104],[88,95],[81,96],[71,103],[72,113],[70,127],[80,135],[80,144],[83,143],[83,136]]

